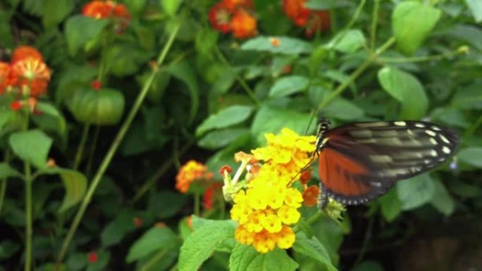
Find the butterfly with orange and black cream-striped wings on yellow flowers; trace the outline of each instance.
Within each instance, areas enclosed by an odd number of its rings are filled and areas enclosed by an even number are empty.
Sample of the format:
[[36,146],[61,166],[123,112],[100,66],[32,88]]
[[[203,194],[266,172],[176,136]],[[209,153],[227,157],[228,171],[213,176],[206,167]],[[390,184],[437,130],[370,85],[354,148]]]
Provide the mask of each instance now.
[[321,119],[317,134],[321,207],[326,196],[344,205],[371,201],[398,180],[443,163],[459,144],[455,131],[412,120],[355,122],[330,130],[330,121]]

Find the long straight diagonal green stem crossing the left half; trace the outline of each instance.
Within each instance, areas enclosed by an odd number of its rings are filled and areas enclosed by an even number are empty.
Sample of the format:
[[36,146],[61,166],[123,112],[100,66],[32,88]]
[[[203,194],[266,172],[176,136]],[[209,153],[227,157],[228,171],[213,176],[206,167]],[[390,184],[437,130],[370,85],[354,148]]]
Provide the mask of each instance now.
[[[168,41],[166,44],[164,44],[164,48],[161,51],[159,58],[157,59],[157,65],[161,65],[164,61],[164,59],[167,56],[167,53],[169,49],[171,49],[171,45],[174,42],[174,38],[176,34],[178,34],[180,27],[180,23],[178,22],[175,27],[173,27],[173,30],[168,38]],[[82,220],[82,217],[85,213],[85,210],[87,209],[87,206],[89,205],[90,201],[92,200],[92,196],[94,195],[95,190],[97,189],[97,186],[99,185],[99,182],[104,176],[104,172],[106,172],[107,168],[109,167],[109,164],[111,163],[111,160],[116,153],[118,146],[121,144],[122,139],[125,136],[125,133],[128,131],[130,124],[132,120],[134,120],[135,115],[137,114],[137,111],[139,111],[139,108],[142,106],[142,102],[144,101],[145,97],[147,96],[147,92],[149,91],[149,88],[152,85],[152,82],[154,82],[154,79],[158,73],[159,69],[154,69],[147,78],[147,81],[144,83],[144,86],[142,87],[141,92],[137,96],[137,99],[135,100],[134,104],[132,105],[132,108],[130,109],[130,112],[128,113],[127,118],[125,118],[123,125],[121,126],[121,129],[119,130],[118,134],[116,135],[116,138],[113,140],[111,147],[109,148],[109,151],[107,151],[106,156],[104,157],[104,160],[102,160],[101,165],[99,166],[99,170],[97,170],[97,173],[95,174],[94,178],[92,179],[91,184],[89,185],[89,189],[87,190],[87,193],[85,194],[85,197],[80,204],[80,208],[78,209],[77,213],[75,214],[75,218],[70,225],[70,228],[68,230],[66,238],[63,240],[62,248],[61,251],[58,255],[58,258],[56,260],[57,267],[60,265],[60,263],[63,260],[63,257],[66,256],[68,246],[70,245],[70,241],[72,241],[72,238],[80,224],[80,220]]]

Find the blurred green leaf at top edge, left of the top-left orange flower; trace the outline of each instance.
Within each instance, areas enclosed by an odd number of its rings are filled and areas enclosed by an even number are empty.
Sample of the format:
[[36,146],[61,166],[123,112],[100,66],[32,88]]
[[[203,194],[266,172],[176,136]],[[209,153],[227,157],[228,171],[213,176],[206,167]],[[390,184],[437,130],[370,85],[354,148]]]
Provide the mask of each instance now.
[[42,0],[42,23],[44,27],[54,27],[61,23],[74,8],[73,1]]

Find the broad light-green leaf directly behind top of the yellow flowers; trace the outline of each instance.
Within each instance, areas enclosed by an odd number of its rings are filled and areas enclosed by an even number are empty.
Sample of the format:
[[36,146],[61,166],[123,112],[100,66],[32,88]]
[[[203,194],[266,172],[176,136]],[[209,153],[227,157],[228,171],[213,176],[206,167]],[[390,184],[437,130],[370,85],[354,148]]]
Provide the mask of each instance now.
[[[298,113],[288,109],[261,106],[251,126],[251,133],[256,137],[259,144],[262,144],[264,134],[267,132],[278,133],[283,127],[290,128],[298,134],[305,134],[311,114]],[[308,131],[310,133],[312,131]]]

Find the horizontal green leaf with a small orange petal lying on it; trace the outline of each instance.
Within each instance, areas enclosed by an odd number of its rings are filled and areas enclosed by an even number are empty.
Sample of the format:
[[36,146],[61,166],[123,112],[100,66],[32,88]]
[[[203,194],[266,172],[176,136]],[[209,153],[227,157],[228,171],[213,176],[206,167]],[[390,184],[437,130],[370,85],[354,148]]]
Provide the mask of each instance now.
[[[276,46],[273,45],[274,39],[277,39]],[[241,49],[285,54],[311,53],[313,50],[309,42],[291,37],[255,37],[242,44]]]

